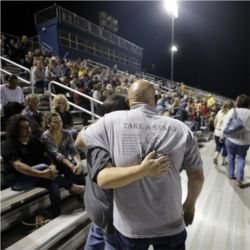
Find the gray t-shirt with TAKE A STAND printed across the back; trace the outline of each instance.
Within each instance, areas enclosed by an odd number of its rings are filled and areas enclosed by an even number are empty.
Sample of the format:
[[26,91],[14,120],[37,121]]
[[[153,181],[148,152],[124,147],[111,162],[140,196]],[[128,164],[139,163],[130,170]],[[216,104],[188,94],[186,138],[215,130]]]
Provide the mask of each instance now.
[[114,189],[114,226],[119,232],[130,238],[150,238],[184,230],[179,172],[202,169],[197,144],[185,124],[139,104],[105,115],[81,136],[87,147],[107,149],[116,166],[139,164],[153,149],[170,156],[171,168],[165,175]]

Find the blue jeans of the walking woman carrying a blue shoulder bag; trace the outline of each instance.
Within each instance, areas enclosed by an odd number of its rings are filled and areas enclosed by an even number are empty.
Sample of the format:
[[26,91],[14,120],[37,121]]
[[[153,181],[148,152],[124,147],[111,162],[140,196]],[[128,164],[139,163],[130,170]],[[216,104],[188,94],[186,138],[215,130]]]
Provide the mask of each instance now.
[[229,139],[225,141],[228,153],[228,173],[230,177],[234,177],[235,158],[237,159],[237,180],[244,180],[244,168],[246,163],[247,150],[249,145],[237,145]]

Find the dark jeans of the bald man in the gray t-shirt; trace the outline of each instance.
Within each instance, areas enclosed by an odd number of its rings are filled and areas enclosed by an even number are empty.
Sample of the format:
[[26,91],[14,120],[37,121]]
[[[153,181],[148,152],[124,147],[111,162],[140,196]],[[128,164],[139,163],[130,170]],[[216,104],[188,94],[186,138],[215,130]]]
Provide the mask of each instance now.
[[157,238],[127,238],[116,230],[121,250],[148,250],[153,245],[154,250],[185,250],[186,230],[179,234]]

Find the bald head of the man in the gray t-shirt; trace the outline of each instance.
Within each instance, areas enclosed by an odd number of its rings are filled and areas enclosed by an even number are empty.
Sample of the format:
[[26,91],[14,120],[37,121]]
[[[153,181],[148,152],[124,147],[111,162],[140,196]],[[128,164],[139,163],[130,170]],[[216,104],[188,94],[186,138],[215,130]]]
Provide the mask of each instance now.
[[155,90],[153,84],[146,80],[134,82],[128,90],[129,106],[145,103],[155,106]]

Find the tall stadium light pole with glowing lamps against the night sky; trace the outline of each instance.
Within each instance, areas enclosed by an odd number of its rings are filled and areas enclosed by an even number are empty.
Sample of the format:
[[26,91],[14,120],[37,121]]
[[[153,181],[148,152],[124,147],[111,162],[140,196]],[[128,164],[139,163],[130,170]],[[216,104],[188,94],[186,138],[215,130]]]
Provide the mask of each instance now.
[[174,45],[174,20],[178,17],[178,5],[177,0],[165,0],[164,7],[171,16],[172,28],[171,28],[171,80],[174,80],[174,53],[177,51],[177,47]]

